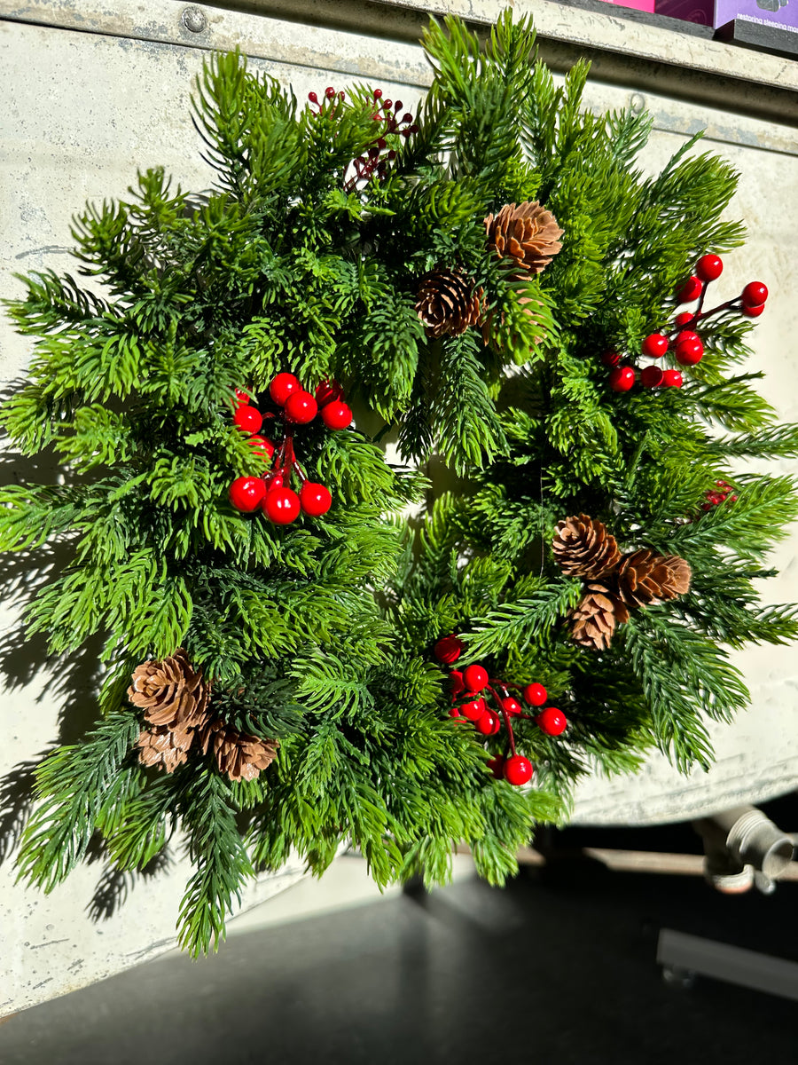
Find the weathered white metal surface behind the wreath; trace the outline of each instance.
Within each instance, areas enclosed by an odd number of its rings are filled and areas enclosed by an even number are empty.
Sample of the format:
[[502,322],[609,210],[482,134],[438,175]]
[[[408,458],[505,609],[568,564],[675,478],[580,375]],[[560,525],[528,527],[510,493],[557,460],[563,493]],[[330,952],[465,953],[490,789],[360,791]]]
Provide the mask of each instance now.
[[[269,3],[272,12],[280,6],[278,0]],[[487,21],[501,5],[494,0],[463,0],[445,6]],[[653,112],[656,133],[647,165],[660,166],[684,134],[706,126],[713,140],[710,147],[727,154],[741,170],[734,211],[747,218],[751,240],[745,251],[729,257],[718,291],[731,294],[751,278],[769,285],[770,306],[759,320],[757,361],[768,372],[764,389],[780,414],[798,420],[793,344],[798,334],[793,296],[798,258],[793,192],[798,142],[795,129],[779,117],[784,111],[784,91],[761,84],[751,88],[750,106],[757,114],[767,113],[767,120],[743,113],[742,106],[737,113],[706,103],[678,102],[651,89],[662,92],[667,80],[661,73],[668,63],[672,80],[674,62],[684,58],[684,38],[675,44],[674,38],[662,36],[663,31],[634,27],[610,15],[604,19],[562,9],[545,0],[515,6],[536,13],[549,42],[576,43],[577,49],[568,53],[571,59],[588,45],[615,56],[616,65],[605,64],[603,69],[614,70],[617,83],[595,82],[589,102],[601,109],[645,105]],[[107,6],[88,0],[63,5],[0,0],[0,18],[13,19],[0,21],[3,295],[18,291],[9,279],[13,271],[70,268],[70,215],[86,199],[122,195],[136,167],[163,164],[189,189],[207,183],[188,117],[190,81],[199,70],[203,48],[239,45],[259,56],[264,68],[290,82],[300,99],[329,83],[345,87],[363,79],[381,84],[393,96],[401,94],[412,104],[428,83],[420,50],[406,39],[409,28],[417,27],[419,12],[428,7],[421,0],[390,0],[382,5],[355,0],[289,4],[286,0],[283,7],[293,7],[295,14],[307,12],[309,17],[316,12],[336,28],[199,7],[205,26],[200,33],[192,33],[183,21],[185,5],[171,0],[121,0]],[[32,24],[36,21],[45,24]],[[71,29],[57,28],[65,24]],[[365,36],[363,28],[369,33],[381,29],[383,35]],[[402,39],[392,40],[389,33]],[[704,53],[703,47],[691,42],[688,59],[710,86],[704,99],[717,99],[721,95],[718,85],[725,84],[712,75],[713,67],[770,86],[794,89],[798,84],[798,68],[786,61],[720,45]],[[617,63],[627,48],[645,62],[643,72],[630,62],[630,78],[625,80]],[[646,82],[649,61],[652,73]],[[24,344],[1,323],[0,378],[16,376],[27,359]],[[794,537],[780,548],[777,564],[783,573],[768,584],[770,599],[798,599],[797,545]],[[9,604],[0,621],[12,624]],[[0,777],[35,758],[57,736],[59,703],[52,692],[44,691],[48,674],[38,654],[28,646],[19,648],[13,657],[17,681],[0,707],[4,738]],[[713,730],[720,760],[709,776],[684,781],[654,760],[635,781],[589,781],[580,790],[577,819],[592,823],[676,819],[731,801],[758,801],[795,786],[795,651],[754,649],[737,660],[748,675],[754,709],[731,728]],[[44,897],[14,886],[7,864],[0,867],[0,1016],[90,983],[173,944],[185,864],[177,863],[160,876],[138,882],[121,910],[98,922],[87,906],[101,871],[97,865],[80,869],[52,896]],[[245,904],[267,898],[300,875],[298,867],[290,867],[279,878],[260,882]],[[286,903],[290,904],[287,898]]]

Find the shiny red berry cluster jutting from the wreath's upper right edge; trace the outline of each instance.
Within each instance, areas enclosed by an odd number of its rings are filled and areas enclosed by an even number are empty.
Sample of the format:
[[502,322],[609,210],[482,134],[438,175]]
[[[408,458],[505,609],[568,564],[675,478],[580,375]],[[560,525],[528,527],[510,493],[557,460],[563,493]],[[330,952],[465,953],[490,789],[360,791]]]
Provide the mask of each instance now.
[[[672,341],[674,357],[680,366],[695,366],[703,358],[703,342],[695,331],[699,322],[729,309],[737,310],[748,317],[758,317],[765,309],[767,286],[762,281],[749,281],[743,292],[734,299],[718,304],[711,311],[703,310],[706,288],[711,281],[716,281],[724,272],[722,260],[718,256],[702,256],[696,264],[696,273],[692,274],[677,293],[680,304],[692,304],[698,300],[695,311],[682,311],[674,320],[674,328],[669,332],[649,333],[642,344],[643,355],[649,359],[662,359],[670,349]],[[610,388],[614,392],[629,392],[637,380],[634,366],[621,365],[617,351],[604,351],[601,361],[611,366]],[[677,388],[683,384],[679,370],[663,370],[655,363],[646,366],[639,373],[639,381],[644,388]]]

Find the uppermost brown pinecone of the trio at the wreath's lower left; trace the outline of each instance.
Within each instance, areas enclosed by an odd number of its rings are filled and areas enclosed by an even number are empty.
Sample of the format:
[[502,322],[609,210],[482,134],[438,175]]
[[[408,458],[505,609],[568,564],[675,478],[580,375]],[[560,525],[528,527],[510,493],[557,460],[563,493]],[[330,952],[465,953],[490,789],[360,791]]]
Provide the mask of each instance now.
[[197,728],[207,719],[207,685],[181,648],[160,661],[133,671],[128,698],[144,710],[147,723],[171,730]]

